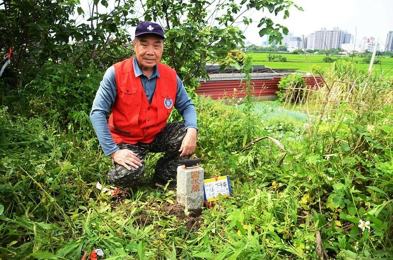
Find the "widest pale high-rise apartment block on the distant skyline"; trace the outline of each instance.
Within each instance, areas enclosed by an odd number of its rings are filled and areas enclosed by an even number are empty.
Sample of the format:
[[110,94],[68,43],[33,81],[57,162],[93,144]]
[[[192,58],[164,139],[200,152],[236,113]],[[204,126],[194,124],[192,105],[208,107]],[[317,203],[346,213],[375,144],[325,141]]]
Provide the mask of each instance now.
[[315,31],[314,49],[328,50],[341,47],[344,38],[344,31],[334,27],[333,30],[321,28]]

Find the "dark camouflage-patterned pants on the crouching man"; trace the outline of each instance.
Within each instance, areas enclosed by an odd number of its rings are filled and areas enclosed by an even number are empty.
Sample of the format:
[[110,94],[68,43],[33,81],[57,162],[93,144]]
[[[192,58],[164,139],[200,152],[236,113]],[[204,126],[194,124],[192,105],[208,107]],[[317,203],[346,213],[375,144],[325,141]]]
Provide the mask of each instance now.
[[183,122],[168,123],[167,126],[154,138],[151,143],[127,144],[119,143],[120,149],[128,149],[134,152],[142,161],[142,167],[127,170],[123,166],[113,162],[113,168],[108,173],[108,179],[117,186],[133,186],[140,183],[145,171],[144,157],[148,152],[161,153],[163,156],[157,161],[153,182],[171,184],[176,182],[177,166],[179,165],[180,146],[186,134]]

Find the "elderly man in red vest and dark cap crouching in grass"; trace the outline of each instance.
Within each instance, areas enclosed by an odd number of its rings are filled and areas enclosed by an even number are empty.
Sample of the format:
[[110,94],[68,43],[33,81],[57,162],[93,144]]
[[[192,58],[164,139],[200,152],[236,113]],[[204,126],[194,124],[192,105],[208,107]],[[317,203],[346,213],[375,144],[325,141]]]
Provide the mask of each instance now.
[[[160,25],[141,22],[135,30],[135,56],[106,71],[93,102],[90,120],[105,155],[112,157],[108,178],[118,186],[140,181],[148,152],[164,152],[153,182],[176,180],[180,157],[196,148],[195,106],[176,72],[160,63],[164,39]],[[173,107],[184,122],[167,123]]]

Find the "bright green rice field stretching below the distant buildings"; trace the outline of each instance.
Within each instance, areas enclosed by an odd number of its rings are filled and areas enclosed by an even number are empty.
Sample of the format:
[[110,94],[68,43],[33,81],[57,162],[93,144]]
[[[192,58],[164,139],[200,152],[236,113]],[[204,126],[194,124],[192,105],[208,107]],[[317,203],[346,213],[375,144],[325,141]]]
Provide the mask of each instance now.
[[[265,67],[272,69],[297,69],[299,72],[311,72],[312,69],[317,69],[321,72],[327,72],[331,69],[332,63],[323,62],[323,58],[326,55],[322,54],[287,54],[287,53],[276,53],[286,57],[286,62],[268,61],[269,53],[252,52],[253,65],[264,65]],[[364,69],[365,72],[368,70],[369,64],[363,63],[364,57],[350,57],[350,56],[331,56],[333,59],[341,57],[347,61],[352,61],[356,65]],[[381,59],[381,64],[373,65],[373,73],[377,75],[383,74],[385,77],[393,76],[393,57],[382,58],[380,56],[375,59]],[[315,73],[315,71],[313,71]]]

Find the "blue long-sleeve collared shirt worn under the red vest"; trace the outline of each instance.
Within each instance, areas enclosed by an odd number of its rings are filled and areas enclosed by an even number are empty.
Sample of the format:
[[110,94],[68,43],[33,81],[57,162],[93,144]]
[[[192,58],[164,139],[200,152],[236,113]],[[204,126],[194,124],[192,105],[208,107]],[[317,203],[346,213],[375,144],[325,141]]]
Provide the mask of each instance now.
[[[149,103],[151,103],[154,92],[156,90],[157,77],[160,78],[160,75],[157,71],[157,65],[154,67],[154,72],[150,78],[147,78],[143,74],[135,57],[133,59],[133,65],[135,76],[140,77],[147,100],[149,101]],[[115,72],[113,66],[108,68],[108,70],[105,72],[105,75],[100,82],[100,87],[97,90],[90,112],[91,123],[93,124],[102,150],[104,151],[104,154],[106,156],[109,156],[119,150],[118,146],[113,141],[112,134],[109,130],[107,122],[107,114],[111,110],[117,93],[116,78],[114,74]],[[182,115],[186,129],[190,127],[198,129],[195,105],[191,101],[191,98],[188,96],[187,91],[184,88],[183,82],[178,76],[174,107]]]

